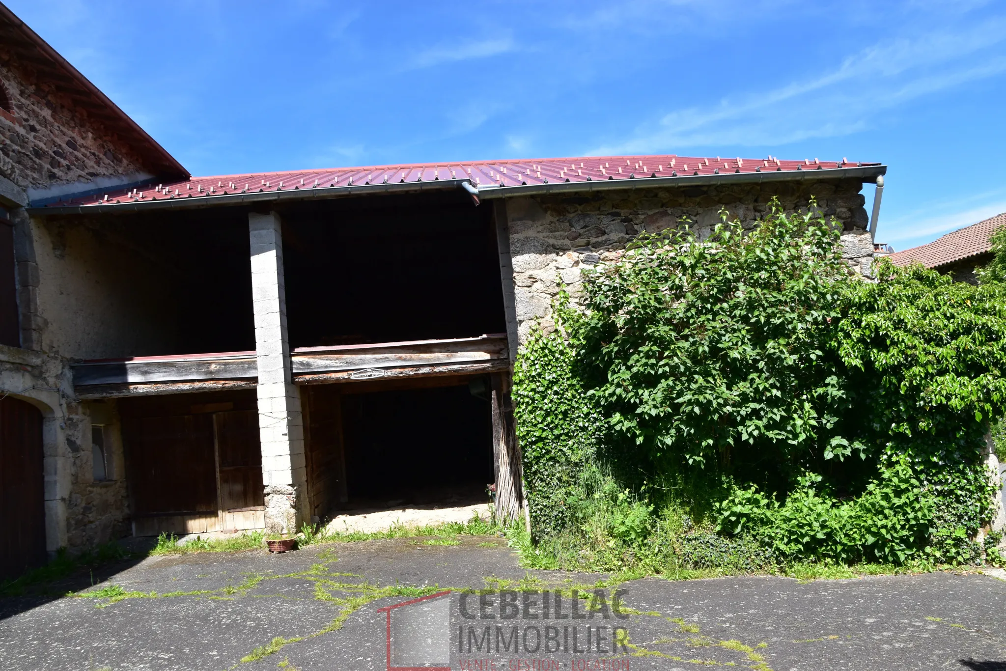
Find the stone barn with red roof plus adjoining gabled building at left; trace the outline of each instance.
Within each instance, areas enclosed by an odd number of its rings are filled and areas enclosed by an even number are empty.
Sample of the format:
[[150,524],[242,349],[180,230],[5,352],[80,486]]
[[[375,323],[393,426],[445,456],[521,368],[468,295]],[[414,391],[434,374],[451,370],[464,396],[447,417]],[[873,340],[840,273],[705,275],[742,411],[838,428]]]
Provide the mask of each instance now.
[[[0,572],[445,490],[519,514],[510,371],[642,231],[811,196],[869,276],[877,163],[630,156],[190,177],[0,5]],[[6,232],[5,232],[6,231]],[[4,237],[5,236],[5,237]],[[6,240],[6,241],[4,241]],[[43,487],[44,473],[44,487]],[[44,537],[41,530],[44,529]]]

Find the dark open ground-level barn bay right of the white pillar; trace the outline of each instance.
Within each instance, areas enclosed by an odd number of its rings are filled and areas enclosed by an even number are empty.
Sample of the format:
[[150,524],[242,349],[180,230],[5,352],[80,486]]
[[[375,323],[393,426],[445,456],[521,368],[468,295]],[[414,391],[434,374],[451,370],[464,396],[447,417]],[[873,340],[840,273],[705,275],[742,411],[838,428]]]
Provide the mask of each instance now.
[[313,515],[489,502],[488,384],[459,375],[302,387]]

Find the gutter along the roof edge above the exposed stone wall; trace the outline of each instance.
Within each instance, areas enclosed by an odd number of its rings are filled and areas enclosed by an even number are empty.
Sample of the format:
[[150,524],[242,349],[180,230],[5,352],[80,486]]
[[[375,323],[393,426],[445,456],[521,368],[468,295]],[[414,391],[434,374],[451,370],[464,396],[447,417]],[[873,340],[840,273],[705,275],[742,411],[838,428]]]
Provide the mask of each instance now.
[[540,195],[546,193],[610,191],[616,189],[640,189],[680,186],[714,186],[720,184],[808,181],[820,179],[853,179],[873,182],[876,177],[887,172],[885,165],[871,165],[858,168],[837,168],[821,170],[772,170],[765,172],[723,173],[719,175],[679,175],[677,177],[636,177],[633,179],[598,179],[585,182],[556,182],[554,184],[528,184],[527,186],[499,186],[492,189],[480,187],[479,197],[508,198]]

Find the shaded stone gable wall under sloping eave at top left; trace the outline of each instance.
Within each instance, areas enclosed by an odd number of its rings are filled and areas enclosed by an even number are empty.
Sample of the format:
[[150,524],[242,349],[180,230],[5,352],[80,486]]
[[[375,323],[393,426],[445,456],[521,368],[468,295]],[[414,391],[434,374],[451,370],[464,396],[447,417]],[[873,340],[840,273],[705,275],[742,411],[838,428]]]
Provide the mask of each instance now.
[[114,133],[15,62],[2,44],[0,86],[12,108],[0,110],[0,175],[22,189],[79,184],[75,190],[82,190],[101,185],[103,177],[125,183],[149,176]]

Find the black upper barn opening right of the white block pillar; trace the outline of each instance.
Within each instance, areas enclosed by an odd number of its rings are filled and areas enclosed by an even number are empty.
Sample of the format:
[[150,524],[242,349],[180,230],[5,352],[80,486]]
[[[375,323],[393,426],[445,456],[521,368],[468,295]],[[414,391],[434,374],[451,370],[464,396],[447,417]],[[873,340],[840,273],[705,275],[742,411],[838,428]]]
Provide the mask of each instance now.
[[283,212],[292,348],[506,331],[492,208],[463,191]]

